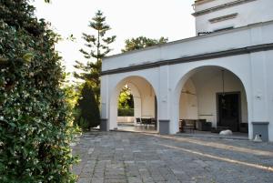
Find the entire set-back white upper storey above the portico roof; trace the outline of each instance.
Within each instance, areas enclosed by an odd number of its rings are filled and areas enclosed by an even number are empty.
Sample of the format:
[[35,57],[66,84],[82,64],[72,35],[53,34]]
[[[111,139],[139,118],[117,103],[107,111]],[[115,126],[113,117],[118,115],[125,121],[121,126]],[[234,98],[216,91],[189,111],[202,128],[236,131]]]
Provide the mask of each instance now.
[[193,7],[197,36],[273,20],[272,0],[197,0]]

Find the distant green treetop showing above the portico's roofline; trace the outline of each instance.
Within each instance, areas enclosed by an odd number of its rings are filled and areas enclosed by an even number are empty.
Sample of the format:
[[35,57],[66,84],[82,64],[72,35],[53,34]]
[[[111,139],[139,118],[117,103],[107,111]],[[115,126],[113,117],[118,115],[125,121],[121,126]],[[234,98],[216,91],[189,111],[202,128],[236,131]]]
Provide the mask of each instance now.
[[148,46],[156,46],[158,44],[167,43],[167,38],[160,37],[159,39],[147,38],[146,36],[138,36],[136,38],[126,39],[126,46],[122,49],[122,52],[133,51]]

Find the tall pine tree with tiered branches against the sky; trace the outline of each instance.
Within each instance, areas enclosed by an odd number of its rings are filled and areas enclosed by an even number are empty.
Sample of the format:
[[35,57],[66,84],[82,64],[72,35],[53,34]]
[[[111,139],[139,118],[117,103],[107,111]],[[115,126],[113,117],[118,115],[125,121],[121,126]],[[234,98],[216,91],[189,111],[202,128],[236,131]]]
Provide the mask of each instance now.
[[81,70],[81,73],[75,72],[74,76],[84,79],[91,84],[96,96],[96,102],[99,103],[102,58],[111,51],[109,45],[116,40],[116,36],[106,36],[106,32],[111,28],[109,25],[106,25],[106,16],[100,10],[96,12],[88,26],[96,31],[96,35],[83,33],[87,49],[82,48],[80,52],[88,62],[85,65],[83,62],[76,61],[75,67]]

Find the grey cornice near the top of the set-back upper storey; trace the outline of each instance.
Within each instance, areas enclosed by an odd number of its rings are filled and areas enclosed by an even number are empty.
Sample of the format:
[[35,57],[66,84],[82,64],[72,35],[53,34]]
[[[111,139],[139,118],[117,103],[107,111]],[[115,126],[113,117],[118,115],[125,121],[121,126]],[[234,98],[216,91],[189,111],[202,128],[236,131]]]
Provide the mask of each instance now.
[[194,15],[194,16],[205,15],[205,14],[208,14],[208,13],[211,13],[211,12],[215,12],[215,11],[225,9],[227,7],[242,5],[242,4],[250,3],[250,2],[253,2],[253,1],[257,1],[257,0],[237,0],[237,1],[234,1],[234,2],[226,3],[226,4],[223,4],[223,5],[217,5],[217,6],[210,7],[210,8],[201,10],[201,11],[197,11],[197,12],[193,13],[192,15]]

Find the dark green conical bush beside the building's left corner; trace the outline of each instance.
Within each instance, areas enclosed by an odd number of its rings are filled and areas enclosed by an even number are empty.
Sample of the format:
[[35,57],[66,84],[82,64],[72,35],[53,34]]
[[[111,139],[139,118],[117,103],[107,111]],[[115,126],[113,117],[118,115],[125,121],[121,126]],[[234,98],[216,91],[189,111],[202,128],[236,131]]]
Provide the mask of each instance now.
[[81,96],[77,101],[76,124],[83,130],[90,130],[100,124],[100,116],[96,98],[90,83],[86,82],[82,88]]

